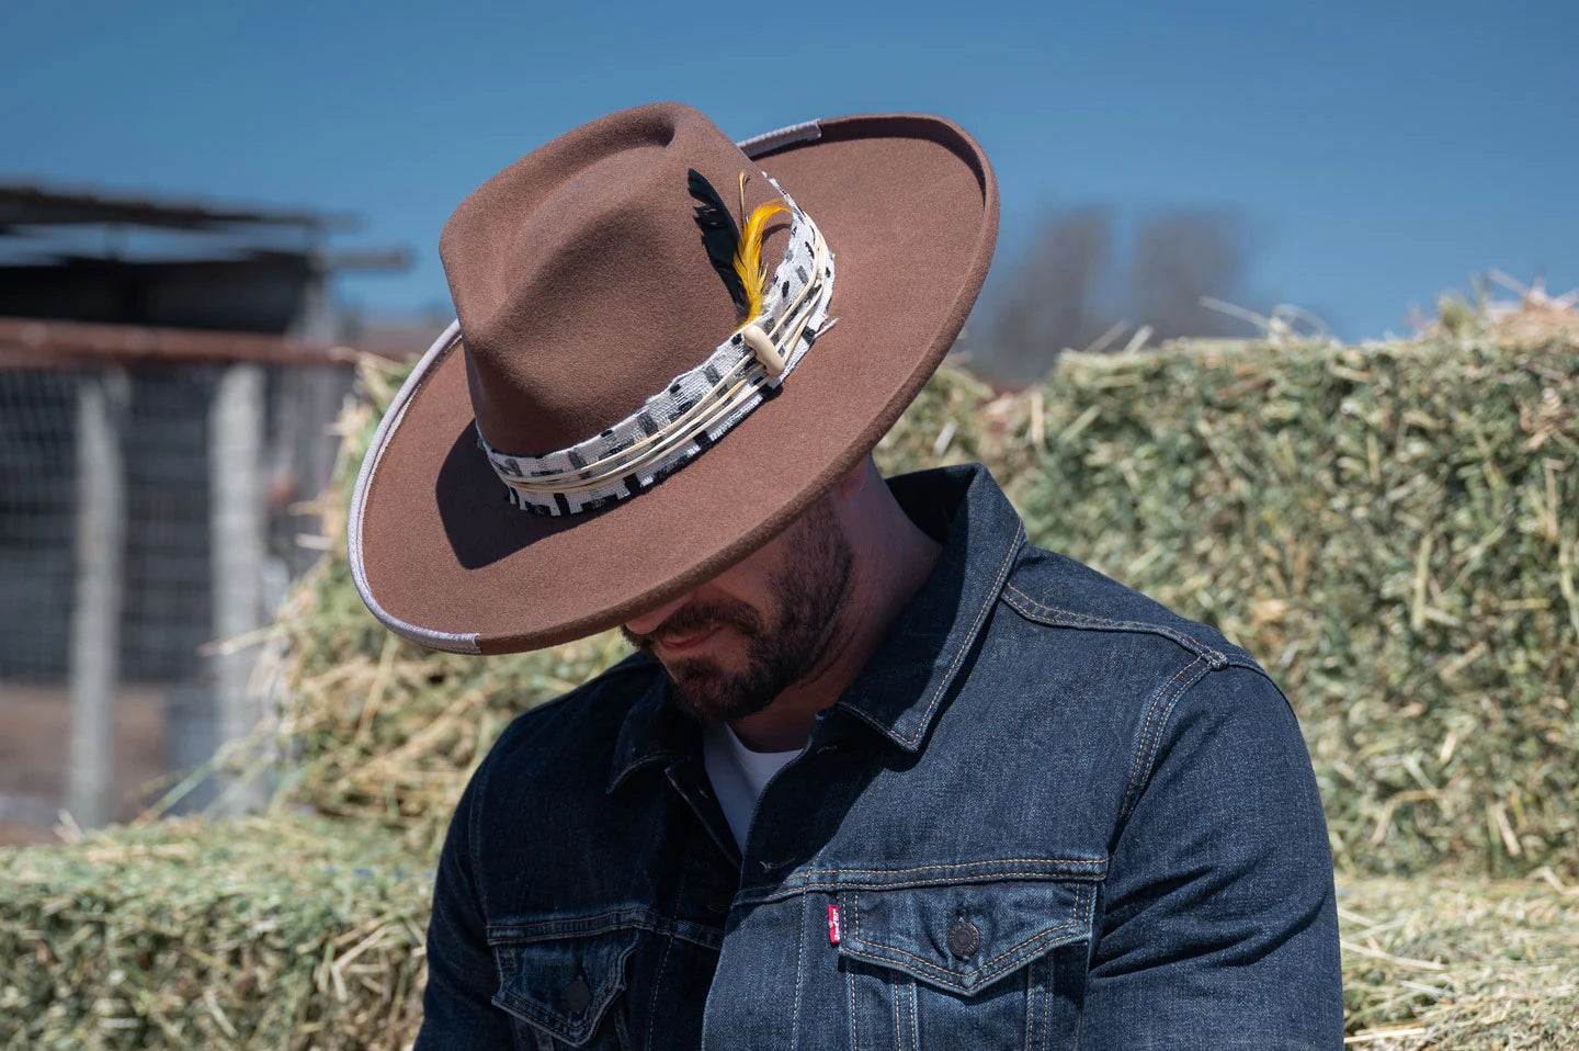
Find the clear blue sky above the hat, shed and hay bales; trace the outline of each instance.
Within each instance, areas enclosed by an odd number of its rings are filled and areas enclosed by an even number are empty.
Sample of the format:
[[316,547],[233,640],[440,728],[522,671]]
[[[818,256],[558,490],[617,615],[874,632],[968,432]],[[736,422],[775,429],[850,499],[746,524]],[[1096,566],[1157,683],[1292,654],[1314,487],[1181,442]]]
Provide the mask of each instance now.
[[1047,207],[1246,215],[1260,296],[1345,337],[1487,267],[1579,284],[1571,5],[0,0],[0,180],[354,212],[376,311],[442,308],[477,183],[600,114],[731,134],[922,111],[985,145],[1000,266]]

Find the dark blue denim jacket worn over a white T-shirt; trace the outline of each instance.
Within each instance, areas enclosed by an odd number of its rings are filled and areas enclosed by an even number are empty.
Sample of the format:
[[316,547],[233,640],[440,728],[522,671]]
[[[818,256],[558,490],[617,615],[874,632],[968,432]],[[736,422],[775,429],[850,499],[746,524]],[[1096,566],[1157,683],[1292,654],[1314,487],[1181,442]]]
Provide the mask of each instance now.
[[632,656],[524,713],[455,812],[418,1049],[1341,1048],[1333,863],[1277,686],[1030,545],[985,468],[744,850]]

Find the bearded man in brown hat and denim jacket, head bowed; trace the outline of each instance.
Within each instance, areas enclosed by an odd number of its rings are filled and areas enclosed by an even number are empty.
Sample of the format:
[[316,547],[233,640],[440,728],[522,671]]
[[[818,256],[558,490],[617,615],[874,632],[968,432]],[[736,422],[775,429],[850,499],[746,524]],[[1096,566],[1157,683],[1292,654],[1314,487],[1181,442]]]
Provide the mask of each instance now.
[[872,465],[996,204],[944,120],[736,147],[647,106],[455,212],[357,586],[429,646],[638,653],[467,785],[420,1048],[1341,1046],[1276,684],[1026,544],[979,465]]

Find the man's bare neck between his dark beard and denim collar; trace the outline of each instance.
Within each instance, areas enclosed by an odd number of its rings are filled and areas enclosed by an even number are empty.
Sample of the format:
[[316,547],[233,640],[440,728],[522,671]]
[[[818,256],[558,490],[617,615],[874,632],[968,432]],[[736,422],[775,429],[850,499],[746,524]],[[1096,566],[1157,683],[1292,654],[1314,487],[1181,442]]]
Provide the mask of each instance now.
[[729,722],[752,751],[783,752],[805,744],[816,713],[837,702],[856,680],[938,561],[943,547],[905,515],[875,471],[872,480],[875,487],[851,509],[861,523],[850,537],[856,566],[850,596],[827,626],[821,656],[767,708]]

